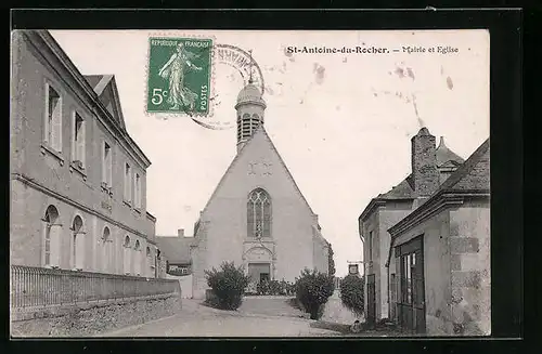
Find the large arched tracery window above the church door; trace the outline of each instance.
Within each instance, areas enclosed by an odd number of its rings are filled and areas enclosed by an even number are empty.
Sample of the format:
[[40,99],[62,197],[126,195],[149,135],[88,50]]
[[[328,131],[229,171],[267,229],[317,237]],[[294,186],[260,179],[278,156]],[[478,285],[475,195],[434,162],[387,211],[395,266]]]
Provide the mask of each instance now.
[[271,198],[261,188],[254,189],[248,195],[247,236],[271,237]]

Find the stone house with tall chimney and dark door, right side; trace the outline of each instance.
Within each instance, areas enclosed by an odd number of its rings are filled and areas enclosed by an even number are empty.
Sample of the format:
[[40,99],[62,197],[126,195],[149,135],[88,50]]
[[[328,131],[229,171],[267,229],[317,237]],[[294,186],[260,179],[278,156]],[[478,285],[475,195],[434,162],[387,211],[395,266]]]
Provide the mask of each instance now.
[[[435,136],[423,128],[412,139],[412,173],[372,199],[359,218],[360,236],[366,246],[367,320],[390,318],[427,335],[486,333],[487,318],[479,331],[466,325],[468,329],[457,329],[464,322],[451,317],[451,279],[469,277],[474,274],[470,271],[478,272],[475,276],[489,274],[489,143],[486,141],[467,161],[451,152],[443,139],[435,145]],[[454,191],[459,186],[463,186],[462,196]],[[464,234],[457,234],[459,230]],[[462,235],[466,238],[459,238]],[[476,251],[466,246],[474,239],[480,240],[477,247],[481,245]],[[468,254],[456,253],[461,250]],[[460,259],[470,262],[463,275],[455,264]],[[450,262],[455,262],[455,268]],[[489,303],[487,281],[488,277],[477,284],[485,288],[479,290],[479,302],[469,302],[477,311]]]

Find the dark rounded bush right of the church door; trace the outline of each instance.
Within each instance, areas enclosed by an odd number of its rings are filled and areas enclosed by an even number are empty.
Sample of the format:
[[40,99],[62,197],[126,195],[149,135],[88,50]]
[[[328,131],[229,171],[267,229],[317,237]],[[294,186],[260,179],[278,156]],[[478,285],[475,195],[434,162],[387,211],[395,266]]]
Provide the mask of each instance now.
[[311,319],[322,316],[323,305],[333,294],[335,285],[333,276],[320,273],[317,270],[304,270],[301,276],[296,280],[296,298],[310,314]]

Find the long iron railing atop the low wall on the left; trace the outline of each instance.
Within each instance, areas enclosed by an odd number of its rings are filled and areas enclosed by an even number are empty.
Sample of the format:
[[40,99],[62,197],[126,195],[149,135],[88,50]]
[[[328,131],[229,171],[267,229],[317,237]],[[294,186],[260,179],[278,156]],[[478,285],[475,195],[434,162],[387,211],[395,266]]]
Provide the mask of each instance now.
[[176,279],[11,266],[11,307],[35,307],[180,293]]

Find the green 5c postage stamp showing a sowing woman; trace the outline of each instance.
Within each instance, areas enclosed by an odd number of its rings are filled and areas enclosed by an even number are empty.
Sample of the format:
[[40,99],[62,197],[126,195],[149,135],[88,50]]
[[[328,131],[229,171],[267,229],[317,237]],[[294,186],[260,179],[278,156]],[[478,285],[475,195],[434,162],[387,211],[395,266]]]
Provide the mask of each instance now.
[[150,38],[147,113],[209,115],[212,39]]

